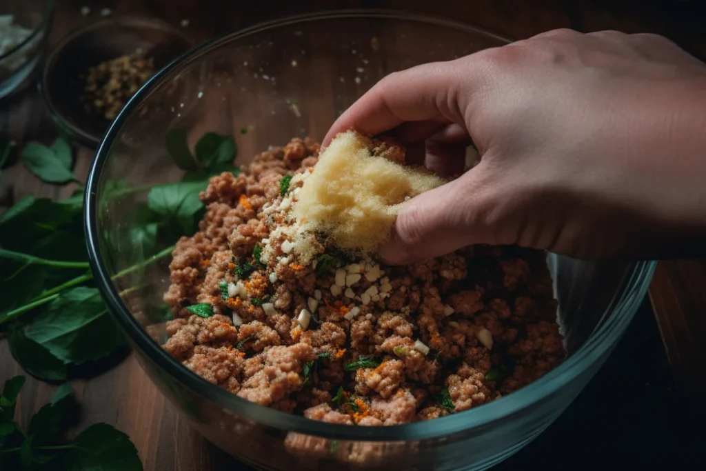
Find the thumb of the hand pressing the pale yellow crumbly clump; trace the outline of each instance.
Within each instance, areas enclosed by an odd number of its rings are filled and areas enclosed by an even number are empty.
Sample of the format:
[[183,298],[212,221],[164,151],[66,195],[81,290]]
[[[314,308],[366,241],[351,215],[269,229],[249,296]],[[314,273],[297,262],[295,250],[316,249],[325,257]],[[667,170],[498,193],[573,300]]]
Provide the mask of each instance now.
[[477,244],[480,191],[476,169],[402,205],[390,238],[378,250],[388,265],[450,254]]

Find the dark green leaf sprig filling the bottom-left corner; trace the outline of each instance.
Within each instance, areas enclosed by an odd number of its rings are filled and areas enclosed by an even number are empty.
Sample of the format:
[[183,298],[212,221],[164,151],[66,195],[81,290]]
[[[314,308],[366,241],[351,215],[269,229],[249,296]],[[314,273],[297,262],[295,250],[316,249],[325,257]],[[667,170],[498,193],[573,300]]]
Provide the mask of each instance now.
[[135,446],[108,424],[93,424],[71,442],[64,435],[76,417],[71,384],[56,388],[52,402],[30,419],[26,431],[13,422],[24,376],[5,382],[0,396],[0,469],[66,471],[141,471]]

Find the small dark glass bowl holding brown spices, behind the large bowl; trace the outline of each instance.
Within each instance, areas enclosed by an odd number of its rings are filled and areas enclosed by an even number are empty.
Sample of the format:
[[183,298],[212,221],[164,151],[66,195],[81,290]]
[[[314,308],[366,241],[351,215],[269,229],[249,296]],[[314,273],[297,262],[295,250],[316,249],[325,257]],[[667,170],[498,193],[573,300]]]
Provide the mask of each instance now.
[[189,37],[158,20],[91,23],[49,53],[40,92],[61,129],[78,143],[95,147],[132,95],[192,46]]

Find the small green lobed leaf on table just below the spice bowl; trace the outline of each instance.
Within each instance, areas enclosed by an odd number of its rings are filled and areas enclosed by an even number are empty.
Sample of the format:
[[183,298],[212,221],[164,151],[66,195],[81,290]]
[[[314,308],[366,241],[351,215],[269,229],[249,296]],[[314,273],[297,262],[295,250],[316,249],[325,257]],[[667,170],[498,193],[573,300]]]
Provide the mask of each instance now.
[[[68,149],[68,153],[67,153]],[[30,172],[47,183],[64,184],[78,181],[71,172],[71,148],[57,139],[48,148],[37,142],[30,142],[22,150],[22,161]]]

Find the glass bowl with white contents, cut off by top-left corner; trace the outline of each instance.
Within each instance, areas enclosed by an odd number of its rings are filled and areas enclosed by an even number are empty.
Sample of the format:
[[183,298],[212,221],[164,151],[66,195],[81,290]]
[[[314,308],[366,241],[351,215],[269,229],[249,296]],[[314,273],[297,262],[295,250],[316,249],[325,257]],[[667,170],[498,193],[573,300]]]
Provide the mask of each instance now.
[[0,98],[34,71],[53,18],[53,0],[0,0]]

